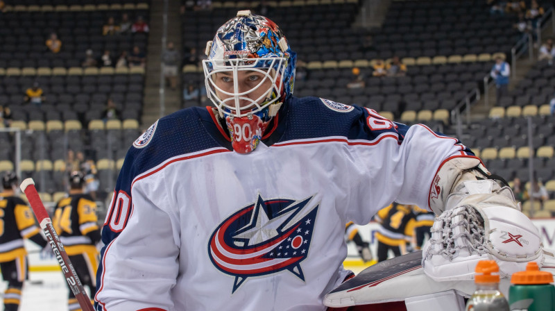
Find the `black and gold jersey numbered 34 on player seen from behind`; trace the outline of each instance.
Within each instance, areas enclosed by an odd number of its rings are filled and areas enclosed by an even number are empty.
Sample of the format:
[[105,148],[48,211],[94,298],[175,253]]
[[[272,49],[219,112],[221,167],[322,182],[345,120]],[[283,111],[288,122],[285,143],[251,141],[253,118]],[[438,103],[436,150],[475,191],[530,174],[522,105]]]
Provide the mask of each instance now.
[[52,224],[67,255],[94,248],[100,239],[96,203],[89,194],[70,194],[56,205]]

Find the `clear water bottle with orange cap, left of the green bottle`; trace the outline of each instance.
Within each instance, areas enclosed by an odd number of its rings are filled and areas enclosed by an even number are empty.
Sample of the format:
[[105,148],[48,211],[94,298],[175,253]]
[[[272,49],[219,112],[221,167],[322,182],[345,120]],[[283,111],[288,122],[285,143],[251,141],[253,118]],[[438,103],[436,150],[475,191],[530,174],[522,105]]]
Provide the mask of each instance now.
[[476,292],[468,299],[466,311],[509,311],[509,303],[499,292],[499,266],[495,260],[481,260],[475,269]]

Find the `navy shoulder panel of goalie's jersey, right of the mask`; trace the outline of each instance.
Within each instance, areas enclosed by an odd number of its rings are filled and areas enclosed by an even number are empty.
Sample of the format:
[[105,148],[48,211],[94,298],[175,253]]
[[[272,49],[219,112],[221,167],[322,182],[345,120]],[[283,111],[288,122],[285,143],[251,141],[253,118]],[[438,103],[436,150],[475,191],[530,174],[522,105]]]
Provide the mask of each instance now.
[[343,136],[349,140],[376,140],[384,134],[389,134],[402,141],[409,128],[382,117],[373,109],[338,103],[330,99],[293,97],[291,105],[295,113],[291,114],[293,120],[289,124],[304,127],[302,130],[308,133],[307,136]]

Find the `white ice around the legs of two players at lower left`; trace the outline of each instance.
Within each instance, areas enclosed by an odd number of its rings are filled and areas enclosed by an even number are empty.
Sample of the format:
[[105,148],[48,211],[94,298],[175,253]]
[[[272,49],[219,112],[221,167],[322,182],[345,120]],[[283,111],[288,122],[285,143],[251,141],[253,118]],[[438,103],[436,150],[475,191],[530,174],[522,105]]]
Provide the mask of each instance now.
[[[6,285],[1,282],[0,293],[4,292]],[[67,311],[67,291],[62,271],[29,272],[19,311]],[[3,304],[0,304],[0,310],[3,310]]]

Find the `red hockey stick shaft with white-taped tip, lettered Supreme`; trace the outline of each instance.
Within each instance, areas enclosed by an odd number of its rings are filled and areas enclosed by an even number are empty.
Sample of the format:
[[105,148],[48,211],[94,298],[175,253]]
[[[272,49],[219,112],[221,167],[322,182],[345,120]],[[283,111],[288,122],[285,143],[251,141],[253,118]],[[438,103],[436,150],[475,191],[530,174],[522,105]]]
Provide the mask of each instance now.
[[81,309],[83,311],[94,311],[91,301],[89,300],[89,296],[87,295],[87,292],[85,292],[85,288],[83,288],[83,284],[81,284],[74,266],[69,260],[69,256],[64,249],[64,245],[60,242],[60,238],[58,237],[58,234],[56,234],[56,230],[54,230],[52,220],[40,200],[33,178],[23,180],[23,183],[19,187],[21,187],[22,191],[27,196],[29,205],[33,208],[33,212],[39,221],[40,228],[42,228],[44,235],[46,235],[46,240],[50,244],[54,255],[56,255],[56,260],[58,260],[58,264],[62,267],[65,280],[67,281],[69,288],[71,288],[71,292],[74,293]]

